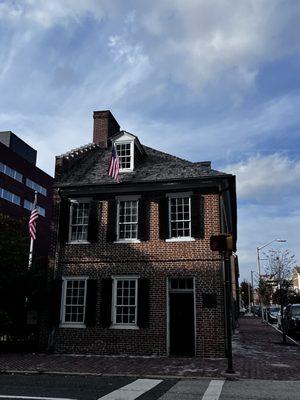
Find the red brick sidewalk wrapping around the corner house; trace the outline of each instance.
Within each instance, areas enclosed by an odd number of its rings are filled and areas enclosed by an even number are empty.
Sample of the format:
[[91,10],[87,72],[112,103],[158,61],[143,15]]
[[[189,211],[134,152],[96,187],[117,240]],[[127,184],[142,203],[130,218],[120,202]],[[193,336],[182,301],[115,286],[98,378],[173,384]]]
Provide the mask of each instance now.
[[[300,380],[300,346],[280,344],[281,336],[260,319],[244,317],[234,334],[234,369],[239,378]],[[103,357],[2,354],[0,373],[83,373],[98,375],[220,377],[225,359]]]

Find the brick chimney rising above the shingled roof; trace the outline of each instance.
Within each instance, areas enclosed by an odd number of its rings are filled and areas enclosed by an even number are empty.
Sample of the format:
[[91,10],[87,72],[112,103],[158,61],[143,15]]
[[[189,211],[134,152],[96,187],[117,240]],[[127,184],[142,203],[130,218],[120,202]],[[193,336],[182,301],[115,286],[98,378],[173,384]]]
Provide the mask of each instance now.
[[107,147],[107,139],[118,132],[120,132],[120,125],[109,110],[94,111],[94,143]]

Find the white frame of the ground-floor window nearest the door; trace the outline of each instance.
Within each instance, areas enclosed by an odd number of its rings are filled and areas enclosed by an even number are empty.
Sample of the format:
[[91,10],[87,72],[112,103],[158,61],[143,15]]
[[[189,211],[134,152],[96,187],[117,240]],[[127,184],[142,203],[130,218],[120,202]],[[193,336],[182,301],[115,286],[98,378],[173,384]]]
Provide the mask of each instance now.
[[[111,307],[111,318],[112,318],[112,325],[110,326],[111,329],[139,329],[137,323],[138,318],[138,280],[139,275],[114,275],[112,278],[112,307]],[[117,282],[118,281],[135,281],[135,323],[117,323]],[[119,306],[120,307],[120,306]],[[125,306],[126,307],[126,306]]]

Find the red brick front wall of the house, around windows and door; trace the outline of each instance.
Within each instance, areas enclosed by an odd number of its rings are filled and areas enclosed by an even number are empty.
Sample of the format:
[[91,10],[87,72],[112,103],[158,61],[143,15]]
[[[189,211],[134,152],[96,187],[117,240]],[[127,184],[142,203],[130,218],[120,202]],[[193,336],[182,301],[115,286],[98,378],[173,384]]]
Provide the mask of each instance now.
[[[169,277],[195,277],[196,355],[224,356],[224,296],[222,262],[211,252],[209,238],[220,231],[219,198],[204,195],[205,236],[194,242],[166,243],[159,239],[158,199],[150,203],[150,240],[142,243],[107,243],[107,202],[102,202],[96,244],[61,246],[56,276],[85,275],[98,280],[98,321],[86,329],[59,328],[56,351],[95,354],[166,355],[167,293]],[[55,232],[55,227],[54,227]],[[54,250],[54,249],[52,249]],[[54,267],[54,252],[51,266]],[[150,326],[139,330],[104,329],[99,325],[100,280],[114,274],[138,274],[150,280]],[[202,294],[216,293],[217,308],[203,308]]]

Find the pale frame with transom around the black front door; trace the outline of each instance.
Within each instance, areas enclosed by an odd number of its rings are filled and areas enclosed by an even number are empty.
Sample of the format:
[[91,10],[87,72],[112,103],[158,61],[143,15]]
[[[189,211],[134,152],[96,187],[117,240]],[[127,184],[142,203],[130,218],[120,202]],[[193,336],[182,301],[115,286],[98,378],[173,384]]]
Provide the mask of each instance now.
[[[170,280],[177,278],[188,278],[193,279],[193,288],[192,289],[171,289]],[[166,278],[166,306],[167,306],[167,356],[170,356],[170,293],[193,293],[193,304],[194,304],[194,357],[196,356],[196,344],[197,344],[197,336],[196,336],[196,280],[194,276],[167,276]]]

